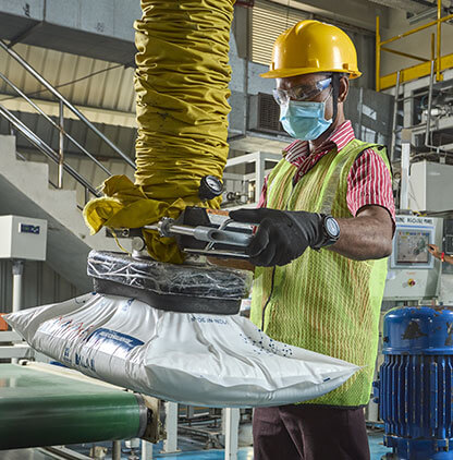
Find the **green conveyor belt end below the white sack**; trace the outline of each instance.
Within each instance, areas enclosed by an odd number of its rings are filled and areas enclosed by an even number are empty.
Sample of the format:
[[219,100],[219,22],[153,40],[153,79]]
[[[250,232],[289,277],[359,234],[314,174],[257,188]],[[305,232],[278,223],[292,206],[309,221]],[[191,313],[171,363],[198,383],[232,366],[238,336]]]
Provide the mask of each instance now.
[[0,364],[0,450],[161,437],[159,402],[59,366]]

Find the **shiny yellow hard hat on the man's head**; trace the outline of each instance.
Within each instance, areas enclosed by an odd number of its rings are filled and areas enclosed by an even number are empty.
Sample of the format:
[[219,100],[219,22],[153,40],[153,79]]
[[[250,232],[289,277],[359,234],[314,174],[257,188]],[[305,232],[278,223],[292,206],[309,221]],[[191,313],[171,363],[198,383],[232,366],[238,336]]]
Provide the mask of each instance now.
[[265,78],[282,78],[316,72],[348,73],[357,78],[357,52],[339,27],[319,21],[301,21],[276,40]]

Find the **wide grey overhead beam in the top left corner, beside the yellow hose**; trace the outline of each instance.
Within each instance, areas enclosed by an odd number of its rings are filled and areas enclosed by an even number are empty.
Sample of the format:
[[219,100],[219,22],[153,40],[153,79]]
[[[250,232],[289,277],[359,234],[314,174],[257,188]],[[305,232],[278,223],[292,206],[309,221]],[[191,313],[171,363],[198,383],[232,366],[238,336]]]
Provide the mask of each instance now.
[[0,39],[133,65],[138,0],[0,0]]

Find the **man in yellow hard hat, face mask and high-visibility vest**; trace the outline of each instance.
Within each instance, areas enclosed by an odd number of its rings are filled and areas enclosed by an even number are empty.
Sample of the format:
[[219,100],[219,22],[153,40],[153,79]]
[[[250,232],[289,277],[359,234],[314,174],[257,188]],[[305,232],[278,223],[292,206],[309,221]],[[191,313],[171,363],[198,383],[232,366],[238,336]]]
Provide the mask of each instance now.
[[359,75],[347,35],[318,21],[284,32],[261,75],[276,78],[280,121],[295,140],[259,208],[230,213],[258,226],[247,250],[250,318],[273,339],[362,368],[315,400],[255,409],[255,460],[369,459],[364,407],[395,218],[385,149],[358,141],[344,116]]

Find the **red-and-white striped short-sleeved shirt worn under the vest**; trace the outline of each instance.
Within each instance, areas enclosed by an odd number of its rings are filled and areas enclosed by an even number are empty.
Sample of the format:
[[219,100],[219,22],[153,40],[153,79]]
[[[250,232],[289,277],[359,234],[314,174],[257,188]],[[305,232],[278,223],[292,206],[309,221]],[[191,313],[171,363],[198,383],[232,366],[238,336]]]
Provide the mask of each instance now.
[[[341,149],[355,138],[350,120],[343,122],[317,148],[310,153],[307,141],[296,140],[285,152],[285,159],[297,167],[294,183],[306,174],[325,155]],[[266,206],[267,178],[262,187],[258,207]],[[353,216],[367,205],[384,207],[395,222],[395,204],[393,202],[392,179],[382,158],[371,148],[366,149],[353,164],[347,175],[347,207]]]

